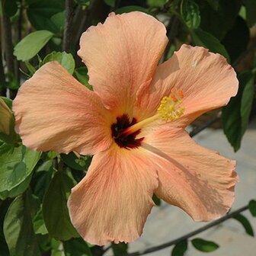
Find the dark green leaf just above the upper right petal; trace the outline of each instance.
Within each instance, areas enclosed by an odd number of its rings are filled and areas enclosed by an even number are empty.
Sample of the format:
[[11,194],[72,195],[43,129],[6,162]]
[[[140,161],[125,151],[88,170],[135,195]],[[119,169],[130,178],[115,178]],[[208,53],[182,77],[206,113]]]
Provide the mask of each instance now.
[[213,35],[201,30],[200,28],[191,31],[191,34],[194,39],[194,43],[198,46],[206,47],[213,53],[220,53],[229,61],[229,54],[216,37],[213,37]]

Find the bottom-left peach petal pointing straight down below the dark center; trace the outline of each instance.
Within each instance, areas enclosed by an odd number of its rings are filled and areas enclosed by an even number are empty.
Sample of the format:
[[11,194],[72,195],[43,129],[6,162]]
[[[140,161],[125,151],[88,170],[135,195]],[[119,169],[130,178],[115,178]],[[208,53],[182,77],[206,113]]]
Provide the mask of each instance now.
[[94,155],[68,202],[72,223],[85,241],[106,245],[132,242],[141,235],[158,187],[147,156],[142,149],[118,146]]

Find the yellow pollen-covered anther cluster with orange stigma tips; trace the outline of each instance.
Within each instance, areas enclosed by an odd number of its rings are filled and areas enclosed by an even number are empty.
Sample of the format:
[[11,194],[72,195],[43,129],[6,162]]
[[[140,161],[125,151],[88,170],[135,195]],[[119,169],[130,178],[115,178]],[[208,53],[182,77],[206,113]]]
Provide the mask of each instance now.
[[184,107],[181,107],[183,97],[182,91],[177,91],[173,88],[170,97],[162,98],[161,104],[158,107],[158,115],[162,120],[177,120],[184,114]]

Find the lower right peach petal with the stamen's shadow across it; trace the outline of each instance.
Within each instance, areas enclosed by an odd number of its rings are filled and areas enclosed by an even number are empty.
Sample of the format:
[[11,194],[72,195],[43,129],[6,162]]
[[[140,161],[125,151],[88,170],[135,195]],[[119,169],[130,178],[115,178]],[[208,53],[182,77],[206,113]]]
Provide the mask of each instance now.
[[230,209],[238,181],[235,161],[198,146],[181,129],[155,131],[142,147],[158,165],[158,197],[196,221],[219,218]]

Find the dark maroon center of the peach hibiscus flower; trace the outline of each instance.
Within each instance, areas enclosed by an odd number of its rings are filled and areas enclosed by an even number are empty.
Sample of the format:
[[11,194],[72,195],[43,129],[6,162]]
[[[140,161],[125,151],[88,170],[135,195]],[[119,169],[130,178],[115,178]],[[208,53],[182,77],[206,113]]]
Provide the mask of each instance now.
[[112,124],[112,136],[120,148],[136,149],[141,145],[144,137],[136,139],[136,136],[140,133],[140,129],[136,130],[134,133],[123,133],[124,130],[135,125],[136,123],[135,118],[133,118],[132,122],[130,122],[128,115],[123,114],[123,116],[117,117],[117,123]]

